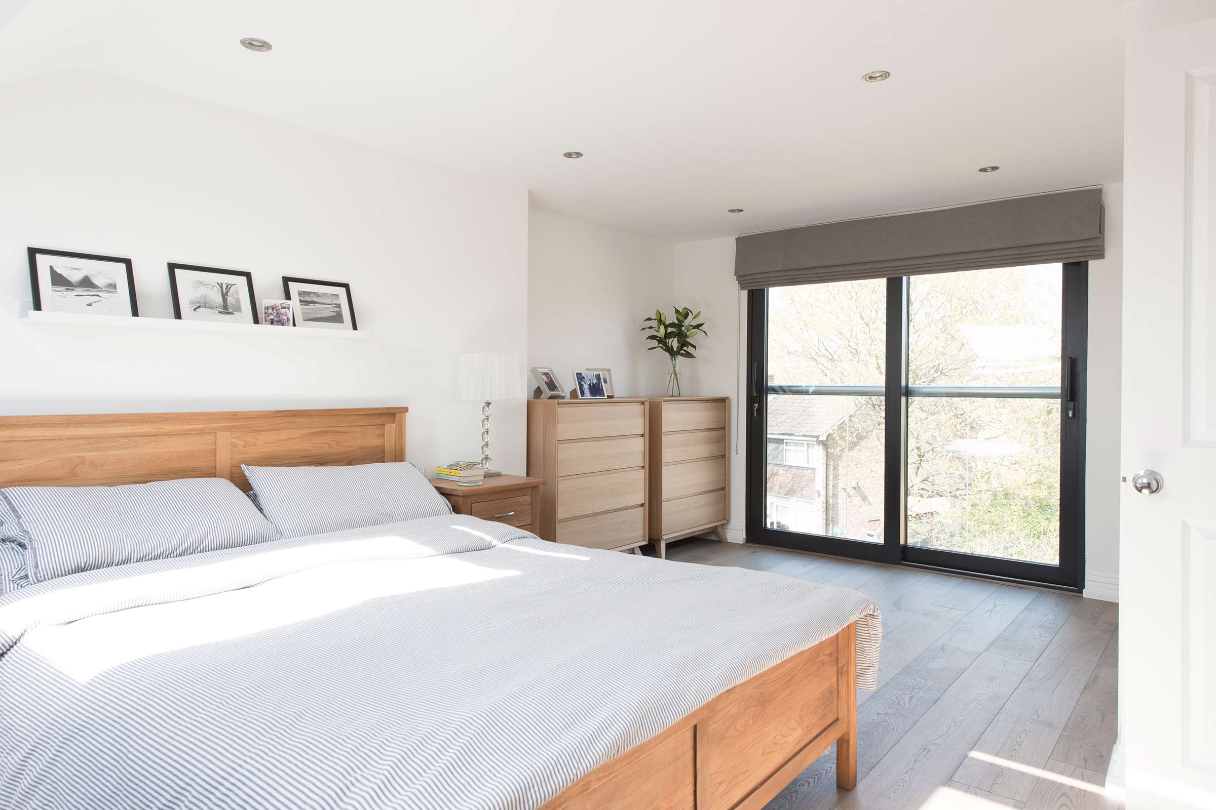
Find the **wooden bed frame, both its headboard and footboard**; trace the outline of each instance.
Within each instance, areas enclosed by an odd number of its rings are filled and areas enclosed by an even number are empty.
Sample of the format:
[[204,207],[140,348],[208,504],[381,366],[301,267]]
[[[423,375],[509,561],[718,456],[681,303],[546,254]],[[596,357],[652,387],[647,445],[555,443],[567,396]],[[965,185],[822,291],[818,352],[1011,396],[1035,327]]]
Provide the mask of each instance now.
[[[0,487],[220,477],[241,464],[405,460],[407,408],[0,417]],[[837,743],[857,780],[856,624],[727,690],[542,810],[753,810]]]

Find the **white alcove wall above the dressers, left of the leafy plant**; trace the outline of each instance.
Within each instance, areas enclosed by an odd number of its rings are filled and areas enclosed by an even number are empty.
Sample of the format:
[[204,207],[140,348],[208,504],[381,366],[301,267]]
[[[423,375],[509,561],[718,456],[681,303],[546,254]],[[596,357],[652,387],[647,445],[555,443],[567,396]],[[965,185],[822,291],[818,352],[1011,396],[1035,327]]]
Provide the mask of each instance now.
[[528,366],[551,367],[567,389],[575,370],[610,368],[617,396],[663,396],[670,363],[646,351],[641,328],[677,302],[674,261],[668,242],[533,209]]

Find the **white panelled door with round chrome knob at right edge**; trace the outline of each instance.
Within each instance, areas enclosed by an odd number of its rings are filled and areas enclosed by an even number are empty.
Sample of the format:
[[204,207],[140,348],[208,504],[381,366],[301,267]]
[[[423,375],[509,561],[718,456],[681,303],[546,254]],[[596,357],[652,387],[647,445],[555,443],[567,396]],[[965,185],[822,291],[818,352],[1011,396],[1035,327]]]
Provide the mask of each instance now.
[[1120,744],[1130,810],[1216,808],[1216,2],[1127,23]]

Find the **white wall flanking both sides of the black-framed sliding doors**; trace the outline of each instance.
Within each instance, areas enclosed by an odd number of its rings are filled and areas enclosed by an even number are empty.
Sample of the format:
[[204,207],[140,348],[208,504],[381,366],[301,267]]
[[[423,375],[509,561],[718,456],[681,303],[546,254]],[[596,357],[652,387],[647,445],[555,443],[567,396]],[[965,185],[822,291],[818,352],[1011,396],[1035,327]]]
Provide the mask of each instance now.
[[[1122,287],[1122,183],[1103,194],[1107,205],[1107,257],[1090,262],[1090,357],[1086,441],[1086,595],[1119,597],[1119,391]],[[731,393],[734,431],[731,446],[731,539],[743,539],[747,312],[734,283],[734,239],[706,239],[676,245],[675,295],[702,308],[715,327],[698,341],[700,355],[689,363],[691,395]],[[710,316],[713,313],[713,316]],[[742,434],[741,434],[742,431]]]

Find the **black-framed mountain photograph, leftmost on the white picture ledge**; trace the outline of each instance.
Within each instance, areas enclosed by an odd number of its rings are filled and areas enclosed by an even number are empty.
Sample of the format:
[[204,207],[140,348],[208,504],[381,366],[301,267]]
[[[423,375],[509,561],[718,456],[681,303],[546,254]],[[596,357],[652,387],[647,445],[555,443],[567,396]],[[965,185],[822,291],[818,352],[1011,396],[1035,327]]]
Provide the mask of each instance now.
[[34,308],[44,312],[135,317],[135,272],[130,259],[29,248]]

